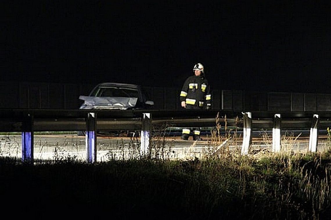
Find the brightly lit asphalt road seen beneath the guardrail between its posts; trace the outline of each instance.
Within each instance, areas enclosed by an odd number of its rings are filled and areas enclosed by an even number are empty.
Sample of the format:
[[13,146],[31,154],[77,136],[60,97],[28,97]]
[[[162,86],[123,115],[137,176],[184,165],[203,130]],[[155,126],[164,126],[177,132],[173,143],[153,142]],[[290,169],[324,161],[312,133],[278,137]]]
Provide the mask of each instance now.
[[[22,157],[22,138],[20,135],[0,136],[0,156]],[[192,139],[192,137],[190,137]],[[195,157],[217,154],[227,148],[232,152],[240,152],[242,139],[232,136],[227,142],[203,136],[204,141],[183,141],[180,136],[153,137],[150,142],[151,154],[167,159],[192,159]],[[282,139],[282,151],[307,152],[307,137],[288,136]],[[260,151],[271,152],[272,139],[269,136],[253,138],[250,153]],[[317,151],[326,149],[326,140],[318,141]],[[34,159],[85,161],[85,136],[77,135],[34,135]],[[97,161],[111,159],[127,159],[140,157],[140,139],[128,137],[97,137]]]

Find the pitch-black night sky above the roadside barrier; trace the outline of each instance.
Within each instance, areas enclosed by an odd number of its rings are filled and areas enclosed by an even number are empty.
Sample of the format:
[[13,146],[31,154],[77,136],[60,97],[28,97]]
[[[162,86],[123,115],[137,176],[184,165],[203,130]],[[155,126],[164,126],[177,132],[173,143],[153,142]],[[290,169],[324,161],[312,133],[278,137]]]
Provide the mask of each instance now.
[[331,4],[114,2],[2,1],[2,80],[331,93]]

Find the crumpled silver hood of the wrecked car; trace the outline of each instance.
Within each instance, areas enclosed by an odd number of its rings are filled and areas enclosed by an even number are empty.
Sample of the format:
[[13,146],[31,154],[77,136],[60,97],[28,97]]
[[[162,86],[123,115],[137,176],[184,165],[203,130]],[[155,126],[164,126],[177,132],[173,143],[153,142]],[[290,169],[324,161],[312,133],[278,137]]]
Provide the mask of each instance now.
[[84,100],[80,109],[120,109],[126,110],[133,108],[137,104],[138,98],[127,97],[92,97],[79,96],[80,100]]

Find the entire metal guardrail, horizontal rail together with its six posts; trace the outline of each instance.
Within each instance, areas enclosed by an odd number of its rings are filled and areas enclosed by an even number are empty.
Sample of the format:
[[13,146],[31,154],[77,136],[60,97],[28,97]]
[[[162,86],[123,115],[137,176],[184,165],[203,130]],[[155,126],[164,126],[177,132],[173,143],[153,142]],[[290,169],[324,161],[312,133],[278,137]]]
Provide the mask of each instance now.
[[140,130],[141,153],[148,153],[153,125],[171,127],[243,128],[242,154],[247,154],[253,129],[272,129],[273,151],[280,149],[281,129],[310,129],[309,150],[316,151],[318,129],[331,127],[331,112],[234,112],[224,110],[61,110],[1,109],[0,132],[22,132],[22,160],[33,161],[33,132],[86,131],[86,159],[96,160],[98,130]]

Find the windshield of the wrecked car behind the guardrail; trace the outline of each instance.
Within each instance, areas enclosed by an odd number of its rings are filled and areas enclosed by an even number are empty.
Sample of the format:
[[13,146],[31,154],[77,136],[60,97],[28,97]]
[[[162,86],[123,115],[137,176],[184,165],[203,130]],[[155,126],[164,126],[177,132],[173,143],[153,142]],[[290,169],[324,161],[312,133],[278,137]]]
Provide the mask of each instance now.
[[123,87],[98,87],[91,96],[138,98],[138,90]]

